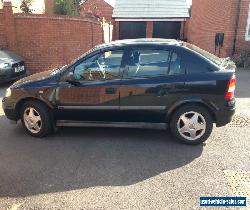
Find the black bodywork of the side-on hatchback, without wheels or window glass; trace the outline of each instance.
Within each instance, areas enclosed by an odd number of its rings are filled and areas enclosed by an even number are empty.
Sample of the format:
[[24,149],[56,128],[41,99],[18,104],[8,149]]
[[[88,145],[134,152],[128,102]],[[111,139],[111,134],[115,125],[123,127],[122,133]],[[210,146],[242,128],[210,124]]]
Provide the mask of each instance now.
[[[166,73],[152,75],[150,66],[156,64],[147,61],[141,64],[144,61],[140,60],[141,66],[149,69],[149,76],[138,74],[137,64],[129,63],[130,57],[126,58],[126,53],[133,53],[133,50],[140,51],[141,57],[150,54],[151,50],[168,51],[166,61],[157,61],[159,71],[169,62]],[[75,82],[65,79],[82,62],[107,51],[118,52],[113,59],[122,52],[115,78]],[[190,70],[189,54],[202,61],[196,64],[198,69]],[[209,110],[217,126],[226,125],[235,112],[235,100],[224,99],[234,69],[223,70],[196,54],[177,41],[124,41],[98,46],[62,69],[38,73],[14,83],[10,87],[11,96],[3,99],[3,108],[9,119],[17,121],[22,102],[35,99],[53,110],[56,120],[162,123],[168,122],[178,107],[195,103]],[[136,54],[133,55],[135,59]],[[157,53],[152,56],[163,59],[157,57]],[[173,57],[177,57],[174,62]],[[135,76],[128,75],[127,66],[135,69]],[[118,67],[112,64],[108,68]],[[177,69],[178,73],[171,73],[171,69]]]

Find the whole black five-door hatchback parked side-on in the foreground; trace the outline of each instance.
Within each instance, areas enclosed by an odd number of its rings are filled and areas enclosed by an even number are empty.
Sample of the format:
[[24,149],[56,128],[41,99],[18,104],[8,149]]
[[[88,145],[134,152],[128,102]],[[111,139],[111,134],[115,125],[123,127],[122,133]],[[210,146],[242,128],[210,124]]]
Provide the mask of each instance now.
[[235,65],[198,47],[165,39],[116,41],[71,64],[19,80],[3,109],[43,137],[56,126],[166,129],[187,144],[204,142],[213,123],[235,112]]

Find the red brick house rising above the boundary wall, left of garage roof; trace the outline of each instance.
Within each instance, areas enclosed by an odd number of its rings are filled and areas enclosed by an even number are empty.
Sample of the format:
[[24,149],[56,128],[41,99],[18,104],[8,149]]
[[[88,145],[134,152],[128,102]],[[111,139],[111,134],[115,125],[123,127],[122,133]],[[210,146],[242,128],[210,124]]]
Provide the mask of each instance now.
[[109,22],[112,20],[114,8],[104,0],[87,0],[83,4],[81,14],[94,12],[94,7],[96,7],[96,15],[98,15],[99,17],[104,17],[105,20]]

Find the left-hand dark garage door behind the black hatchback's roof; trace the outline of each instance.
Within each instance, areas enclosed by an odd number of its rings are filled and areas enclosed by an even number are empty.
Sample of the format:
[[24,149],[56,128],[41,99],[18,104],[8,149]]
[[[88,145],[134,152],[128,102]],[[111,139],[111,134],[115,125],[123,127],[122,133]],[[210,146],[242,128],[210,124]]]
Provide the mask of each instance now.
[[136,39],[146,37],[147,23],[144,21],[120,22],[119,39]]

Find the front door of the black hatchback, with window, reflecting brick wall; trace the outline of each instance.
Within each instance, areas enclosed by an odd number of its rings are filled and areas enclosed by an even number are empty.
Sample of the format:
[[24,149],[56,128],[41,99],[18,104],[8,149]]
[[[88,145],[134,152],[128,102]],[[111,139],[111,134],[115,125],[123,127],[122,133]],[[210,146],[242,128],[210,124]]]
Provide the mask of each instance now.
[[119,112],[123,50],[104,51],[76,64],[75,85],[62,82],[56,92],[59,120],[113,121]]

